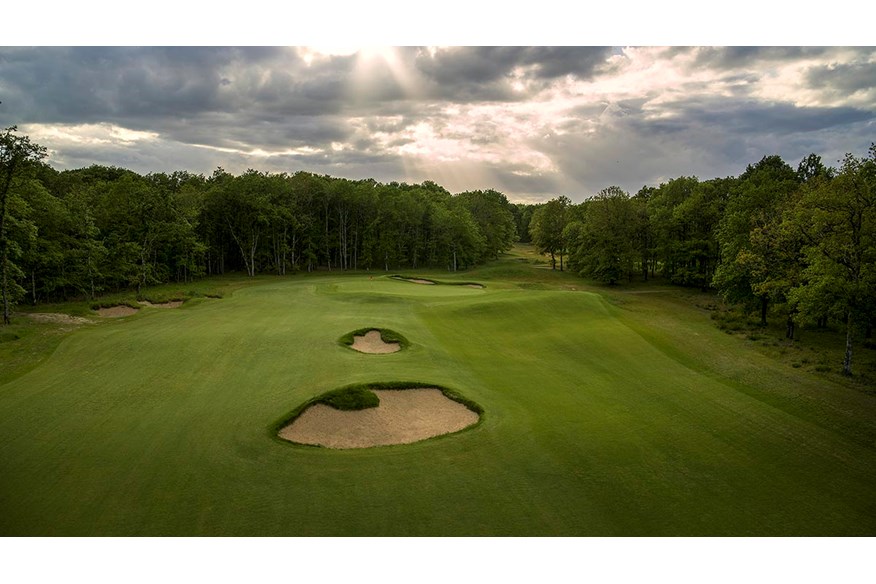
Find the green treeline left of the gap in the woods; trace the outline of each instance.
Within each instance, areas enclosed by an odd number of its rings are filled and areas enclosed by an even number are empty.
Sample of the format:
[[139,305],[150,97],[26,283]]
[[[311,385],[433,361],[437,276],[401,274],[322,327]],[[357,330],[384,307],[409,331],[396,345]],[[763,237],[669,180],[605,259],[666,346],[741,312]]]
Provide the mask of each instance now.
[[[0,135],[5,311],[228,271],[444,268],[496,258],[515,240],[505,195],[451,195],[307,172],[141,176],[58,172],[14,129]],[[5,188],[4,188],[5,185]]]

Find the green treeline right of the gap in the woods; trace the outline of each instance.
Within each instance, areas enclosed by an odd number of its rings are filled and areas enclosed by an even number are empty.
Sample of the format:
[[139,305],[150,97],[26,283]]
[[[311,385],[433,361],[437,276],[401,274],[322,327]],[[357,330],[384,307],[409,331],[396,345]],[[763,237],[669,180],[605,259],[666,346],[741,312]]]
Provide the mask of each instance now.
[[842,323],[846,373],[854,332],[872,334],[876,145],[839,168],[815,154],[796,170],[766,156],[738,177],[679,177],[633,196],[609,187],[579,205],[557,197],[526,211],[525,228],[555,269],[608,284],[659,275],[716,289],[764,325],[782,315],[791,339],[800,324]]

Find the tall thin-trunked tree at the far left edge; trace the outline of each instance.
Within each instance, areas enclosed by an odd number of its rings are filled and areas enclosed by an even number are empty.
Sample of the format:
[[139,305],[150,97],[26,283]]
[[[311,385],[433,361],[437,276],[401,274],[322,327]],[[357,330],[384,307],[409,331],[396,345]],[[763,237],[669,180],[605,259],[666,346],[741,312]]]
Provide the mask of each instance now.
[[16,134],[18,128],[5,128],[0,134],[0,286],[3,296],[3,324],[9,324],[10,272],[9,239],[7,236],[7,212],[10,191],[15,180],[27,170],[28,165],[45,158],[46,149],[34,144],[27,136]]

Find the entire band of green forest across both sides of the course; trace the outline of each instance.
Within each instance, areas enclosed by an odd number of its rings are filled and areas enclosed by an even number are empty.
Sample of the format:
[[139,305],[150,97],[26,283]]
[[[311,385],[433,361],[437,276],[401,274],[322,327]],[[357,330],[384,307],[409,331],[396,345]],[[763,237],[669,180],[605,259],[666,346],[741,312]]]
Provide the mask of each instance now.
[[15,303],[228,271],[455,271],[515,241],[610,285],[659,277],[717,290],[763,322],[781,314],[789,338],[802,323],[842,323],[847,372],[853,335],[876,320],[876,145],[838,168],[766,156],[737,177],[679,177],[632,196],[611,186],[577,205],[307,172],[59,172],[45,156],[15,128],[0,134],[4,322]]

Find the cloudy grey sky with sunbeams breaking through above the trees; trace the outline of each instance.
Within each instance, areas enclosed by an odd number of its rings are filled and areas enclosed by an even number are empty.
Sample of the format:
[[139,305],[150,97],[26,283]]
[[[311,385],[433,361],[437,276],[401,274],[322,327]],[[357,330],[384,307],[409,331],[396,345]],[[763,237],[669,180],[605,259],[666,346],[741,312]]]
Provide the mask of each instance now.
[[304,170],[577,202],[766,155],[865,154],[876,48],[2,47],[0,102],[0,126],[58,169]]

